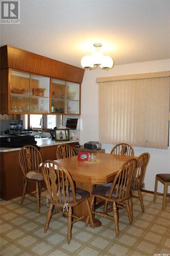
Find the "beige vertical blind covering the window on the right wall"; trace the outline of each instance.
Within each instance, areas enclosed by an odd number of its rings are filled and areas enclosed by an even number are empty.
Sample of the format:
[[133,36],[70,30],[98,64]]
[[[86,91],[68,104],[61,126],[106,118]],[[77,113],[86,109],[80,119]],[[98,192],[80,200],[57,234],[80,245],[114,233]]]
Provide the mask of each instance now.
[[167,148],[169,77],[99,83],[99,139]]

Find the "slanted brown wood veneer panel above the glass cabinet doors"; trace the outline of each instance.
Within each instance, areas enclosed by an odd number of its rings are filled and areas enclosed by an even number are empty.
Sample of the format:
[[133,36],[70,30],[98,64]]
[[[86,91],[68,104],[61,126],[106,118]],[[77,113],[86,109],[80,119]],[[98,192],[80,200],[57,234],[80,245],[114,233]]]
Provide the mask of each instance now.
[[[2,59],[4,59],[2,61],[2,69],[17,69],[82,83],[84,69],[8,45],[2,47],[1,50],[4,50],[2,54]],[[8,54],[8,61],[5,58],[5,56],[7,57],[6,54]]]

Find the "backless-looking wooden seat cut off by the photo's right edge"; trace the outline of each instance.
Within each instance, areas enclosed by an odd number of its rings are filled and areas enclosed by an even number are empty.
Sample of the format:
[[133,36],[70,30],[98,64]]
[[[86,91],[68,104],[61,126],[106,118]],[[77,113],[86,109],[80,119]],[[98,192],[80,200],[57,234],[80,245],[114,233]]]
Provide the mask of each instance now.
[[170,186],[170,174],[157,174],[155,178],[155,190],[154,190],[154,201],[156,200],[157,187],[158,187],[158,180],[164,185],[163,189],[163,205],[162,209],[165,210],[166,208],[166,196],[167,195],[167,187]]

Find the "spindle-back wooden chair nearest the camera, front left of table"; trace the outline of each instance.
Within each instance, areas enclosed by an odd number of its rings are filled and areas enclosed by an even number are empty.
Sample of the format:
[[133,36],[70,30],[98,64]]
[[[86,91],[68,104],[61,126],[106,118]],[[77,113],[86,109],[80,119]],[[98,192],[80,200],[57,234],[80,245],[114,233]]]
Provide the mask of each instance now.
[[[94,228],[90,204],[88,201],[90,193],[81,188],[75,188],[74,182],[68,171],[55,161],[46,160],[42,164],[42,176],[46,183],[50,201],[44,232],[46,232],[48,229],[51,216],[58,212],[62,212],[62,214],[67,217],[68,244],[71,241],[71,227],[73,223],[81,221],[89,216],[91,227]],[[80,204],[83,201],[86,201],[88,214],[78,217],[73,214],[72,207]],[[53,212],[54,206],[58,206],[59,208]],[[86,226],[87,225],[88,222],[86,221]]]

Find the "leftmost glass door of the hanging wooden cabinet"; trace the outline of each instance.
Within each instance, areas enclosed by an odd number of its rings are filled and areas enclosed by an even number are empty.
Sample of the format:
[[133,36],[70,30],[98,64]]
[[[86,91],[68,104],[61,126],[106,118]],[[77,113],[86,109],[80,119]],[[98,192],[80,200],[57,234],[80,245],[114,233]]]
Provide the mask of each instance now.
[[11,70],[9,77],[9,112],[30,111],[30,74]]

